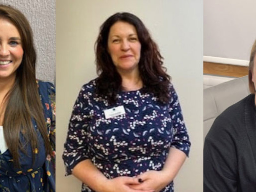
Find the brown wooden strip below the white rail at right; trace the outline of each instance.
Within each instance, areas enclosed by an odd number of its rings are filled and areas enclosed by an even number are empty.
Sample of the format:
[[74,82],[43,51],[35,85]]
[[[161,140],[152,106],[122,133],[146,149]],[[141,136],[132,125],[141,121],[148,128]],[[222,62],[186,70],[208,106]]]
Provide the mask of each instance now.
[[242,77],[248,75],[248,67],[204,62],[205,75]]

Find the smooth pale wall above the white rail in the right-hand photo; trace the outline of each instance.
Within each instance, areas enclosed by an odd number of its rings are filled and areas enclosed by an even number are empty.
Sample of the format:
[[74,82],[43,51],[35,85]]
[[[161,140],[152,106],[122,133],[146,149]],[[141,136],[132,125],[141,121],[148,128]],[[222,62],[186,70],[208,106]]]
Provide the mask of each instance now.
[[255,7],[255,0],[204,0],[204,55],[249,60]]

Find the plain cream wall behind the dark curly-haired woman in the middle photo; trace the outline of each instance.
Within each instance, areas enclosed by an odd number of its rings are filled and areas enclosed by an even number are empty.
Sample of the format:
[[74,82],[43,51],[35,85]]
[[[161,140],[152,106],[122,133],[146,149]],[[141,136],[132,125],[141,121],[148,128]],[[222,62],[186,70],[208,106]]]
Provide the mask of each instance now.
[[56,0],[57,191],[81,191],[80,181],[64,177],[61,155],[68,122],[81,86],[96,77],[94,42],[100,25],[110,15],[124,11],[137,15],[149,29],[180,98],[192,148],[174,180],[175,192],[202,192],[202,0]]

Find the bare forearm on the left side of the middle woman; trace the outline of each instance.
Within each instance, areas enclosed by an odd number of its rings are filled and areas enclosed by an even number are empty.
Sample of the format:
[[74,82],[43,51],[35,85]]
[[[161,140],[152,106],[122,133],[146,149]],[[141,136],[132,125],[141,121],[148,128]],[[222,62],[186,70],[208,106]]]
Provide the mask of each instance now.
[[97,192],[103,192],[104,184],[108,180],[91,162],[86,159],[78,163],[72,174]]

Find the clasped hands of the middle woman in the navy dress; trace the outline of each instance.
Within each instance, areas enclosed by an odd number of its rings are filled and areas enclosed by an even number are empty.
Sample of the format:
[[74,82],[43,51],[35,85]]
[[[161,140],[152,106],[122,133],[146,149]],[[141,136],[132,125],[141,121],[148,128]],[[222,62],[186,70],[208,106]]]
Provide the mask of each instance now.
[[170,179],[163,171],[147,171],[137,177],[116,177],[108,180],[110,190],[106,192],[159,192]]

